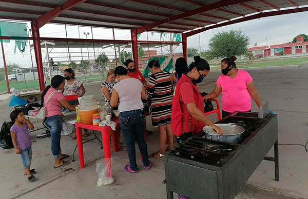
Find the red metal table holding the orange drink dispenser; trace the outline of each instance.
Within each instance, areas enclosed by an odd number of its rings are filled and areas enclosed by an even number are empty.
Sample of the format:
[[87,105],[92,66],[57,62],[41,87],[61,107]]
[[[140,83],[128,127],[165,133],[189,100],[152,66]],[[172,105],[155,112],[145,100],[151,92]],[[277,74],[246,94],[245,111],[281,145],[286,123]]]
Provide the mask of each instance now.
[[[117,128],[115,129],[115,131],[112,131],[109,126],[101,127],[101,126],[93,126],[93,125],[85,125],[85,124],[81,124],[81,123],[75,123],[76,138],[77,138],[77,144],[78,144],[79,162],[80,162],[80,168],[81,169],[85,168],[84,154],[83,154],[83,141],[82,141],[82,133],[81,133],[82,128],[102,132],[102,142],[103,142],[105,160],[111,157],[110,135],[111,135],[111,138],[112,138],[113,151],[114,152],[119,151],[119,140],[120,140],[119,120],[118,120],[118,118],[113,118],[112,121],[117,124]],[[110,165],[110,164],[108,164],[108,165]],[[111,165],[110,165],[110,168],[107,168],[107,170],[111,171]],[[110,172],[107,172],[107,173],[110,173]]]

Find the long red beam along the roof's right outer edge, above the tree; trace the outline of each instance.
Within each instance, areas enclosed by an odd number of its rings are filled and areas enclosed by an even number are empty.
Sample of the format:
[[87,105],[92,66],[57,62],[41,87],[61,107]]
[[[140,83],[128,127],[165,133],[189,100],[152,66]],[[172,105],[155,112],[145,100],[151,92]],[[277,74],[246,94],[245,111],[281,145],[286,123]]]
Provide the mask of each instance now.
[[282,14],[291,14],[291,13],[297,13],[297,12],[306,12],[306,11],[308,11],[308,7],[294,8],[294,9],[288,9],[288,10],[279,10],[279,11],[272,11],[272,12],[262,12],[262,13],[259,13],[259,14],[254,14],[254,15],[243,17],[243,18],[234,19],[233,21],[230,21],[230,22],[225,22],[225,23],[217,24],[217,25],[214,25],[214,26],[206,27],[206,28],[201,28],[199,30],[183,33],[182,36],[184,35],[184,36],[188,37],[188,36],[192,36],[192,35],[195,35],[195,34],[198,34],[198,33],[204,32],[206,30],[213,29],[213,28],[219,28],[219,27],[223,27],[223,26],[227,26],[227,25],[231,25],[231,24],[246,22],[246,21],[256,19],[256,18],[262,18],[262,17],[267,17],[267,16],[277,16],[277,15],[282,15]]

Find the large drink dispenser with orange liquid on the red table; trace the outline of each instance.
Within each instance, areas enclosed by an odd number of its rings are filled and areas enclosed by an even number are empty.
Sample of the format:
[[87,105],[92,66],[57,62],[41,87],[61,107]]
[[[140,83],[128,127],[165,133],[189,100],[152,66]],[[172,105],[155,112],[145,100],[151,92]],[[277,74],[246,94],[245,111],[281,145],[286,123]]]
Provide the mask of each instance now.
[[80,120],[82,124],[92,124],[92,114],[99,113],[99,107],[94,95],[82,96],[80,101]]

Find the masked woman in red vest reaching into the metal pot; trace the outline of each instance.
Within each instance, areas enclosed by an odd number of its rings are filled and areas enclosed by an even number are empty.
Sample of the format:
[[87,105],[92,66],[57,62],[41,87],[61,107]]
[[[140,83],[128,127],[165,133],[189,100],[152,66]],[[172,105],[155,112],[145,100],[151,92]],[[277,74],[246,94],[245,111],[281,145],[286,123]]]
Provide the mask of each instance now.
[[179,79],[172,99],[171,128],[179,144],[200,133],[205,125],[222,134],[221,128],[204,115],[203,98],[197,88],[209,73],[209,64],[200,56],[195,56],[194,60],[188,73]]

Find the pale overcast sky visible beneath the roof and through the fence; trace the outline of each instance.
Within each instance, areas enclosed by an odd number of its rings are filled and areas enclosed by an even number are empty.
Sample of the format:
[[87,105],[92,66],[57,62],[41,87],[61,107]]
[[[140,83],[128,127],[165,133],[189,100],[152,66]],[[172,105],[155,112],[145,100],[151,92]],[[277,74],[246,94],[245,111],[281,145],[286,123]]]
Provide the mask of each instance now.
[[[194,47],[199,50],[199,36],[200,36],[200,46],[201,51],[208,49],[208,41],[209,39],[218,32],[222,31],[229,31],[229,30],[241,30],[244,34],[249,37],[249,47],[252,47],[257,43],[258,46],[265,46],[267,37],[267,45],[274,45],[274,44],[282,44],[291,42],[292,39],[301,33],[308,34],[308,12],[301,12],[301,13],[294,13],[294,14],[286,14],[286,15],[279,15],[279,16],[272,16],[272,17],[265,17],[260,19],[254,19],[252,21],[242,22],[239,24],[233,24],[229,26],[224,26],[216,29],[211,29],[200,34],[188,37],[188,47]],[[30,24],[28,23],[28,27]],[[86,38],[86,35],[83,32],[90,32],[88,38],[92,37],[91,35],[91,28],[90,27],[78,27],[76,26],[67,26],[67,33],[68,37],[70,38]],[[102,29],[102,28],[92,28],[93,38],[101,38],[101,39],[112,39],[112,31],[109,29]],[[42,37],[65,37],[65,27],[63,25],[46,25],[40,29],[40,34]],[[140,40],[146,40],[149,37],[149,40],[157,40],[159,41],[159,33],[155,33],[151,35],[148,33],[143,33],[140,36]],[[170,37],[169,34],[166,34],[166,39]],[[129,30],[115,30],[115,39],[130,39],[130,32]],[[29,44],[26,47],[26,52],[22,54],[18,50],[16,54],[14,54],[14,41],[11,43],[4,44],[5,48],[5,55],[6,55],[6,63],[12,64],[17,63],[22,67],[31,67],[31,56],[29,50]],[[93,49],[93,48],[92,48]],[[122,48],[121,50],[123,50]],[[124,49],[125,50],[125,49]],[[127,49],[129,51],[129,49]],[[158,49],[158,51],[167,51],[167,49]],[[87,56],[87,49],[83,48],[83,56]],[[90,56],[94,55],[93,50],[90,51]],[[98,51],[102,52],[102,49],[95,48],[96,55],[99,53]],[[109,59],[112,59],[114,56],[114,49],[107,48],[105,49],[106,54],[109,56]],[[176,52],[182,52],[181,47],[176,48]],[[52,52],[57,52],[56,54],[51,55],[54,56],[54,62],[60,61],[61,59],[67,59],[63,57],[67,57],[67,50],[66,49],[53,49]],[[80,57],[81,53],[79,49],[71,49],[71,56],[72,54],[76,57]],[[74,54],[75,52],[75,54]],[[33,55],[32,50],[32,57],[33,57],[33,64],[35,64],[35,58]],[[43,62],[45,59],[45,54],[42,53]],[[81,59],[81,58],[77,58]],[[3,58],[2,53],[0,53],[0,67],[3,67]]]

